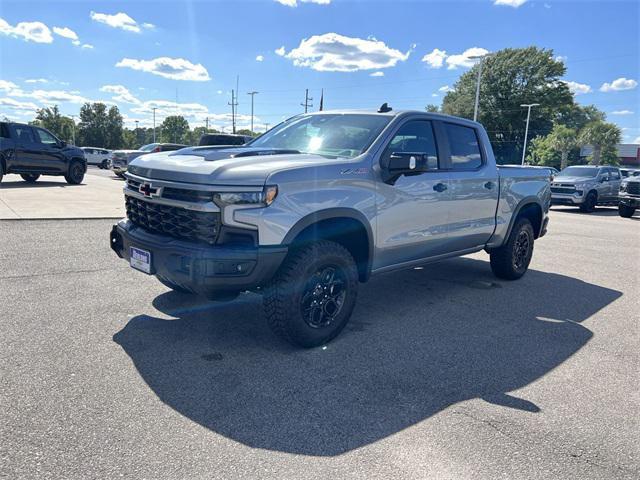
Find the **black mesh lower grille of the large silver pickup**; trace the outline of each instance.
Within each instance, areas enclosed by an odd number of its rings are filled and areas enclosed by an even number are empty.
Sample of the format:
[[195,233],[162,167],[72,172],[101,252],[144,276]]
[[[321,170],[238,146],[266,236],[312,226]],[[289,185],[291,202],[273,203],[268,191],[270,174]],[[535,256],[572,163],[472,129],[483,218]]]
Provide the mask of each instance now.
[[216,243],[220,231],[219,212],[198,212],[125,196],[129,220],[153,233],[196,242]]

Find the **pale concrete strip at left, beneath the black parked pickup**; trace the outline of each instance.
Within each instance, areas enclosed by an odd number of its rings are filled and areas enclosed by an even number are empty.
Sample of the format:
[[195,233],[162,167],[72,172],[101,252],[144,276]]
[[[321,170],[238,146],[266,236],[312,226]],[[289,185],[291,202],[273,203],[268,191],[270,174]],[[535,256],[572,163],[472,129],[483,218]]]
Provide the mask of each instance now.
[[6,175],[0,183],[0,220],[123,216],[122,180],[110,170],[89,166],[80,185],[52,176],[29,184],[20,175]]

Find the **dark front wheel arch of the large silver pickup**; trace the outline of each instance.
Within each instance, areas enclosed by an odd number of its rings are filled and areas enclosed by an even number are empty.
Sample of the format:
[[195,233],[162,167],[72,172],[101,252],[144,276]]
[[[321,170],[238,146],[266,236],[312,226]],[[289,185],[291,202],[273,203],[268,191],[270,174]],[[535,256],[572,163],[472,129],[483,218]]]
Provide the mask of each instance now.
[[329,208],[311,213],[296,222],[282,243],[296,246],[316,240],[341,244],[356,261],[360,281],[369,279],[373,261],[373,231],[369,220],[361,212],[351,208]]

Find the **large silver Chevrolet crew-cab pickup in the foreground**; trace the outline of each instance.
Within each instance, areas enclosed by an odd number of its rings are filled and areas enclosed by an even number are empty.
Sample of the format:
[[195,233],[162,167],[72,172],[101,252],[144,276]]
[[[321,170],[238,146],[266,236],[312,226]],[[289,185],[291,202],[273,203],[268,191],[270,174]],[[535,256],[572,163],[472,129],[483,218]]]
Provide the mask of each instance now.
[[371,275],[485,250],[521,277],[551,200],[546,172],[496,166],[480,124],[389,108],[145,155],[126,177],[118,256],[178,291],[259,291],[273,331],[304,347],[338,335]]

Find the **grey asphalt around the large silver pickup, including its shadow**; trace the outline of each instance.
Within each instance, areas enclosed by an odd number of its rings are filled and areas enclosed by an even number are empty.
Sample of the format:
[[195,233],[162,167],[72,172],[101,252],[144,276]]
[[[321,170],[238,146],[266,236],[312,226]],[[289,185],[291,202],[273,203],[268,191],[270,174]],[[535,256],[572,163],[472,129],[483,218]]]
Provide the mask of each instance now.
[[0,477],[638,478],[640,220],[552,214],[532,269],[373,279],[326,348],[167,291],[110,221],[0,222]]

